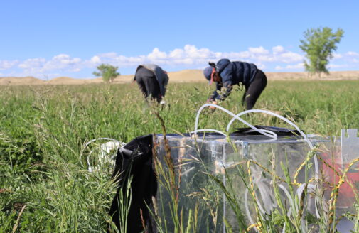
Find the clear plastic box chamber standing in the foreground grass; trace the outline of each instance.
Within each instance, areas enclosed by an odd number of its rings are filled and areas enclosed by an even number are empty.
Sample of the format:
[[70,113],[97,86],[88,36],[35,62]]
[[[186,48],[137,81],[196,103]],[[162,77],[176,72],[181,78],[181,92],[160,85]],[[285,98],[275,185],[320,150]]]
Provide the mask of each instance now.
[[[244,221],[247,226],[257,222],[256,205],[250,189],[247,188],[250,185],[249,180],[252,180],[254,195],[256,200],[259,200],[257,206],[260,212],[271,213],[279,209],[275,200],[273,182],[278,185],[279,197],[289,208],[289,185],[285,182],[288,175],[284,174],[286,169],[291,183],[296,182],[296,185],[291,185],[295,193],[300,195],[304,188],[301,184],[309,180],[311,180],[309,183],[313,184],[315,182],[312,180],[317,177],[326,180],[321,189],[324,190],[325,198],[329,199],[333,185],[338,183],[338,175],[343,173],[353,158],[358,157],[353,156],[355,151],[353,145],[357,142],[347,143],[346,148],[351,149],[347,149],[346,154],[342,156],[343,142],[340,138],[307,137],[315,146],[315,153],[311,153],[308,142],[301,136],[279,136],[275,140],[269,140],[267,136],[167,135],[176,174],[178,211],[182,212],[183,222],[188,222],[190,210],[193,215],[196,206],[200,232],[225,232],[223,219],[230,224],[233,232],[237,232],[240,221]],[[154,142],[156,155],[164,165],[164,169],[168,171],[164,159],[166,156],[164,136],[157,135],[154,137]],[[248,164],[248,161],[252,162]],[[323,161],[326,161],[327,166]],[[329,165],[333,165],[332,168]],[[338,173],[333,171],[333,167]],[[354,187],[345,181],[339,189],[336,205],[338,216],[353,210],[353,202],[355,202],[353,188],[355,189],[355,185],[359,184],[357,168],[358,166],[354,165],[347,173],[347,178],[351,180]],[[171,200],[170,188],[166,185],[166,174],[168,175],[168,173],[159,174],[156,199],[159,215],[163,220],[162,226],[167,232],[173,232],[172,221],[166,222],[166,219],[171,218],[173,211],[173,200]],[[315,192],[315,189],[318,192],[317,188],[312,187],[311,190],[309,187],[309,193]],[[226,192],[229,193],[227,197],[224,194]],[[321,208],[326,206],[316,205],[315,196],[307,195],[306,212],[320,217],[323,211]]]

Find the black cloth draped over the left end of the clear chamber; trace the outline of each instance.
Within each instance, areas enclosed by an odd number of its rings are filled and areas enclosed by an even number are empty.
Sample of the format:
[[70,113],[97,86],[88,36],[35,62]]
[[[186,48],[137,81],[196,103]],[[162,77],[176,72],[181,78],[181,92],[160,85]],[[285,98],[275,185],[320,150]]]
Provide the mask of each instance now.
[[151,233],[156,230],[156,226],[152,222],[153,217],[149,212],[149,207],[153,207],[152,197],[156,197],[157,192],[157,180],[152,161],[152,140],[151,134],[140,136],[127,143],[124,148],[119,148],[117,152],[112,178],[115,178],[115,182],[118,182],[119,186],[114,200],[112,200],[109,215],[112,216],[112,221],[119,229],[122,219],[121,212],[119,212],[122,205],[119,203],[123,202],[119,194],[122,193],[122,197],[126,197],[127,185],[132,176],[132,202],[127,216],[127,232],[143,232],[142,218],[147,232]]

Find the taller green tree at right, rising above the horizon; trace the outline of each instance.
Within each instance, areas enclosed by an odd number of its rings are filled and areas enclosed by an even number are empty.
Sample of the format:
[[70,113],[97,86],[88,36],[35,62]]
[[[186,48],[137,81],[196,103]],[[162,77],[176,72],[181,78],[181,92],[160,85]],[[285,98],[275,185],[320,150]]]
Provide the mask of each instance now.
[[344,31],[338,28],[336,33],[333,33],[331,28],[311,28],[304,32],[304,40],[301,41],[299,48],[306,53],[309,63],[304,60],[304,67],[306,71],[311,74],[318,74],[321,77],[321,72],[328,74],[327,65],[329,59],[333,58],[333,51],[336,50],[336,44],[341,41]]

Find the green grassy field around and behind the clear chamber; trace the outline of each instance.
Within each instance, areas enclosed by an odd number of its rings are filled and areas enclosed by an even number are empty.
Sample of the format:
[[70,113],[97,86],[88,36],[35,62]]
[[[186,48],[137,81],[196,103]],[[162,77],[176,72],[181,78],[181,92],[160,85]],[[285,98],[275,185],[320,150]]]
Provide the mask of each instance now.
[[[170,84],[160,111],[167,131],[192,131],[214,88]],[[339,136],[359,128],[358,90],[358,81],[272,81],[256,108],[281,112],[307,134]],[[242,112],[241,97],[234,91],[221,106]],[[286,126],[266,115],[245,119]],[[229,120],[205,112],[200,127],[224,130]],[[152,133],[161,124],[136,85],[0,86],[0,232],[105,232],[115,187],[110,172],[87,171],[83,145]]]

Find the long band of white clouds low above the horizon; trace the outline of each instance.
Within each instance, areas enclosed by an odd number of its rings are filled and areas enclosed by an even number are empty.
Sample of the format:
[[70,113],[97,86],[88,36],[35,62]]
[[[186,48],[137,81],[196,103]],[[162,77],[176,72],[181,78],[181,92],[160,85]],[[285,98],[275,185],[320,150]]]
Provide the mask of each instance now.
[[[335,53],[336,63],[349,64],[348,68],[358,69],[359,53],[350,51],[347,53]],[[282,45],[277,45],[267,50],[263,46],[250,47],[242,51],[218,52],[208,48],[197,48],[195,45],[185,45],[183,48],[174,48],[162,51],[154,48],[151,53],[132,57],[118,55],[117,53],[95,54],[88,59],[73,58],[68,54],[58,54],[53,58],[31,58],[23,61],[0,60],[0,70],[5,70],[5,75],[18,73],[22,75],[60,75],[64,72],[80,72],[84,69],[95,69],[101,63],[107,63],[122,68],[134,68],[143,63],[156,63],[170,67],[198,68],[205,67],[208,61],[216,62],[220,58],[230,60],[242,60],[254,63],[260,69],[272,67],[274,70],[304,70],[304,55],[286,50]],[[341,65],[343,67],[343,65]],[[332,68],[340,68],[331,65]],[[21,70],[21,71],[18,71]]]

